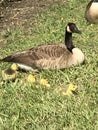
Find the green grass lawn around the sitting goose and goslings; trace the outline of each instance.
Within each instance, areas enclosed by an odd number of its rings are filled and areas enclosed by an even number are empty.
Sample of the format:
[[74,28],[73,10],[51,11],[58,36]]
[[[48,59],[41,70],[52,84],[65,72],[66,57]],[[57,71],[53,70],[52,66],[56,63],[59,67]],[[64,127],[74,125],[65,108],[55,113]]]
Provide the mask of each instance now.
[[[50,88],[29,84],[28,73],[20,72],[14,82],[0,77],[0,130],[98,130],[98,25],[88,25],[84,19],[86,4],[86,0],[68,0],[53,5],[25,23],[28,28],[5,32],[7,47],[0,48],[0,57],[42,43],[61,43],[66,24],[75,22],[82,34],[73,35],[73,40],[84,52],[86,64],[35,74],[38,82],[48,79]],[[0,73],[9,66],[0,63]],[[67,89],[70,83],[78,86],[77,95],[55,92],[59,86]]]

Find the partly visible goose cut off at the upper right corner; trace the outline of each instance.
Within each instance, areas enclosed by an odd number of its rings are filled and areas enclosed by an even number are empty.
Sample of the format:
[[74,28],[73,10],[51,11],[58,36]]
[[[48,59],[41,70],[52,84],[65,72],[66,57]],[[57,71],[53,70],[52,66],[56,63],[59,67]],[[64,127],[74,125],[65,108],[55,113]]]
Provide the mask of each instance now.
[[90,23],[98,23],[98,0],[91,0],[85,11],[85,18]]

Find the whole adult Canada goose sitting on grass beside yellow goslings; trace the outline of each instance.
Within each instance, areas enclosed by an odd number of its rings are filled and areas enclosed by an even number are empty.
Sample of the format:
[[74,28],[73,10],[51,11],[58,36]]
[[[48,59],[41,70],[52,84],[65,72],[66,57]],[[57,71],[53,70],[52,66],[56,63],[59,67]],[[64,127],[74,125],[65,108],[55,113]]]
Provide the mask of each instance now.
[[64,69],[84,62],[84,54],[75,48],[72,33],[81,33],[75,23],[68,23],[64,44],[45,44],[7,56],[1,61],[17,63],[21,69]]

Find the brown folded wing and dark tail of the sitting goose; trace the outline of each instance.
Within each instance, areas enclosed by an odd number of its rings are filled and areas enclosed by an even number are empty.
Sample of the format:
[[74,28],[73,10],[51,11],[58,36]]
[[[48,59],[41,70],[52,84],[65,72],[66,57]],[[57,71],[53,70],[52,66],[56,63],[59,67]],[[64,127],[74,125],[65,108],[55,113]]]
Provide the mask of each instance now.
[[27,51],[18,52],[2,59],[4,62],[20,63],[32,66],[39,60],[55,60],[68,51],[63,44],[40,45]]

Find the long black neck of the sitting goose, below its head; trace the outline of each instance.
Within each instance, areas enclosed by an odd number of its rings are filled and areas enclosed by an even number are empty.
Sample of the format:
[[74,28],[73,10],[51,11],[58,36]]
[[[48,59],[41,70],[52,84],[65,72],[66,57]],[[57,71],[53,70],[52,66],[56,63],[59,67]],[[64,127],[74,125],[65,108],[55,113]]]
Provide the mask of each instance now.
[[65,33],[65,45],[67,49],[72,53],[72,49],[74,48],[74,45],[72,42],[72,33],[69,33],[67,31]]

